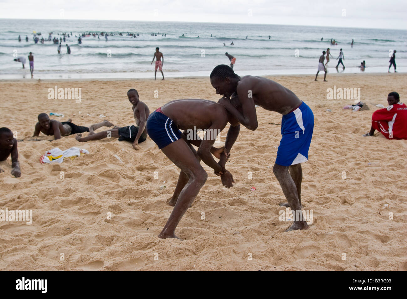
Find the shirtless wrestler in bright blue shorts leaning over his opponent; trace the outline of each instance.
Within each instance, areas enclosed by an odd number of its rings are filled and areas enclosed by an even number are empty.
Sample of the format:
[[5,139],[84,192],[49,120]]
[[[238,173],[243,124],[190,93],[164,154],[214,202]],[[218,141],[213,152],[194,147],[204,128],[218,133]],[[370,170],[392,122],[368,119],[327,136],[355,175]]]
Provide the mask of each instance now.
[[[291,90],[277,82],[258,76],[240,77],[228,65],[215,67],[210,74],[210,83],[216,89],[216,94],[223,95],[218,103],[249,130],[254,131],[258,126],[255,105],[282,114],[282,139],[273,172],[288,201],[288,204],[282,205],[291,207],[293,214],[301,213],[300,163],[308,161],[314,128],[311,109]],[[232,105],[230,96],[238,96],[243,113]],[[293,225],[287,231],[308,228],[306,221],[298,218],[294,218]]]

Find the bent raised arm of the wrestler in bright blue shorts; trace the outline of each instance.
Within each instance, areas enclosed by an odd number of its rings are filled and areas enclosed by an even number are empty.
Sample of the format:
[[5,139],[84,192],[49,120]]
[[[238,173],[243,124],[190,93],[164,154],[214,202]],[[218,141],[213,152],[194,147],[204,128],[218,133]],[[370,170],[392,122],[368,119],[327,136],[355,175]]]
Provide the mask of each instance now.
[[237,95],[242,104],[243,114],[233,107],[228,98],[221,98],[218,103],[223,105],[243,126],[254,131],[258,127],[257,113],[253,98],[248,96],[249,89],[247,85],[239,85],[237,87]]

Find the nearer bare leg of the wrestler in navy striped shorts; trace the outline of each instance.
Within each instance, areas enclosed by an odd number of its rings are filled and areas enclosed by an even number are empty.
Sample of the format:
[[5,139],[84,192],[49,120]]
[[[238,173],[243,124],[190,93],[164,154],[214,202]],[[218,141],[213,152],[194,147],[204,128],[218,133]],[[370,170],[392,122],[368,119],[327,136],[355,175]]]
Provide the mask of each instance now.
[[188,210],[188,207],[195,200],[199,190],[204,186],[208,174],[199,164],[194,153],[183,139],[178,139],[161,150],[188,177],[188,182],[179,193],[177,203],[175,203],[170,218],[168,218],[166,225],[158,235],[159,238],[163,239],[178,238],[175,236],[175,228],[186,210]]

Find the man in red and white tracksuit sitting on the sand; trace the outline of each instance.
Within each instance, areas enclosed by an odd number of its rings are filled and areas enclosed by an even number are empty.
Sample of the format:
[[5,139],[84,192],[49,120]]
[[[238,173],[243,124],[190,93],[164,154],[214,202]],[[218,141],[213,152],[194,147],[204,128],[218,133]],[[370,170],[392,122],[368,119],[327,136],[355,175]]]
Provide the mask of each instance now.
[[387,108],[373,112],[372,127],[363,137],[373,136],[377,130],[387,139],[407,139],[407,106],[400,103],[397,92],[389,93],[387,103]]

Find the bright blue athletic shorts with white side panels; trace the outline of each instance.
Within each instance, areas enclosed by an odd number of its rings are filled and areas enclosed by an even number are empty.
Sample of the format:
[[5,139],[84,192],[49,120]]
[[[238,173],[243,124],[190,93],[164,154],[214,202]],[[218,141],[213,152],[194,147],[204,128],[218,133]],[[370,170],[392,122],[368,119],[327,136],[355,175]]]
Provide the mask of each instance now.
[[308,161],[308,150],[314,131],[314,114],[304,102],[283,115],[276,164],[290,166]]

